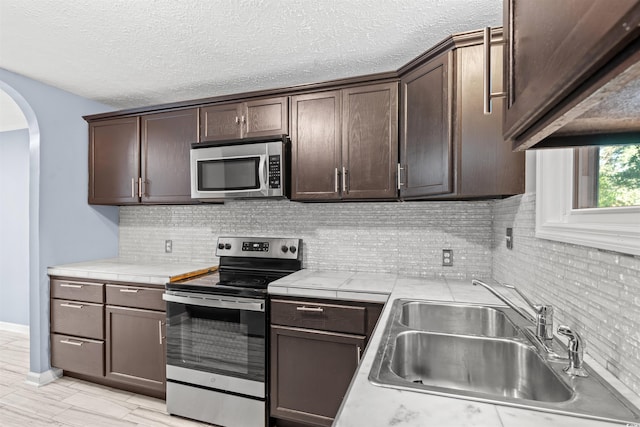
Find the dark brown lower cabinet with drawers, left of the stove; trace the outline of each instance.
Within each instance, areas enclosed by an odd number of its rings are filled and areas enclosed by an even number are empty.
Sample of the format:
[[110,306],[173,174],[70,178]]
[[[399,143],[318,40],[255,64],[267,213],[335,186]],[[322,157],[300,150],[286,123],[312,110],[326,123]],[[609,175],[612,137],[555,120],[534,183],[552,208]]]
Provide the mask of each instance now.
[[51,366],[164,399],[164,288],[52,277]]

